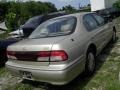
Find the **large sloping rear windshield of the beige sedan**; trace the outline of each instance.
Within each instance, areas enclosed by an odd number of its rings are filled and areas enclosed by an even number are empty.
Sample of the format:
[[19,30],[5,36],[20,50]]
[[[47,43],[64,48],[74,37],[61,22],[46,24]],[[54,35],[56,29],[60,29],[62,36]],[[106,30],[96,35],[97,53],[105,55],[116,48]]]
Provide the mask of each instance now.
[[29,38],[44,38],[68,35],[73,32],[76,27],[76,17],[63,17],[52,19],[38,26]]

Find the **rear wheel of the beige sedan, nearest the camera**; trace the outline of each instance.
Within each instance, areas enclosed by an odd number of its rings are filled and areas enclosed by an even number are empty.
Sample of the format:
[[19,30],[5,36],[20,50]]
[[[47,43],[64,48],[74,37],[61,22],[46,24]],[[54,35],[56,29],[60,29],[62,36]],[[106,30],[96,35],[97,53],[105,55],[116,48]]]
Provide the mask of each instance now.
[[93,50],[88,50],[86,54],[85,76],[91,76],[96,69],[95,53]]

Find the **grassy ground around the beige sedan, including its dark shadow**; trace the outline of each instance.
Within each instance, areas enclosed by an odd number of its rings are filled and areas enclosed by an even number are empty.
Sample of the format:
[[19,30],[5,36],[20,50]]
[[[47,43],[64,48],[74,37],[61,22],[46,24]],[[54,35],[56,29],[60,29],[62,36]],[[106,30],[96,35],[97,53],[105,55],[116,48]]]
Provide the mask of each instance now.
[[0,68],[1,90],[120,90],[120,18],[117,23],[118,40],[109,44],[97,57],[97,71],[92,77],[77,77],[65,86],[52,86],[40,82],[21,80]]

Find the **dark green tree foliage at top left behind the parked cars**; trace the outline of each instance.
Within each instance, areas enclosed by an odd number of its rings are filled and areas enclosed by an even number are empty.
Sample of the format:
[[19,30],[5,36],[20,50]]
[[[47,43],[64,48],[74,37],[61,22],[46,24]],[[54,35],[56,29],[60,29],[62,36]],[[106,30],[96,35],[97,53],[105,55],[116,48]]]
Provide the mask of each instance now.
[[50,2],[0,2],[0,21],[5,18],[8,28],[15,30],[30,17],[56,11]]

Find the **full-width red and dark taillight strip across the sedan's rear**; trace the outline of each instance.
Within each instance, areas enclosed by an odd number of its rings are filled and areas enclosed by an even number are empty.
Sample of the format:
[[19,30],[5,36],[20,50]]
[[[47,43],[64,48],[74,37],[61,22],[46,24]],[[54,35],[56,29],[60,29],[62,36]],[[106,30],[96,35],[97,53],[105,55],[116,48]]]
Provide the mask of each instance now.
[[63,50],[54,51],[40,51],[40,52],[15,52],[7,51],[7,57],[9,59],[18,59],[26,61],[38,61],[38,62],[60,62],[68,60],[68,55]]

